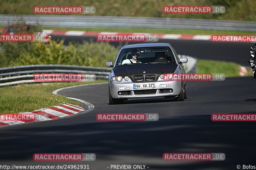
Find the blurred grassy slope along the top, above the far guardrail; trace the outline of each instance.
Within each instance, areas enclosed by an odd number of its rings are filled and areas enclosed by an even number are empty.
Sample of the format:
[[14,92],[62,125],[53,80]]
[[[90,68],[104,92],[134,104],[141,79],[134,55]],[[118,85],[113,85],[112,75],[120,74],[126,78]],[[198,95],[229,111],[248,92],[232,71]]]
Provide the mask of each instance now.
[[[226,11],[223,14],[166,14],[163,6],[168,5],[225,6]],[[1,0],[0,6],[0,14],[34,14],[34,6],[95,6],[96,13],[87,15],[256,21],[255,0]]]

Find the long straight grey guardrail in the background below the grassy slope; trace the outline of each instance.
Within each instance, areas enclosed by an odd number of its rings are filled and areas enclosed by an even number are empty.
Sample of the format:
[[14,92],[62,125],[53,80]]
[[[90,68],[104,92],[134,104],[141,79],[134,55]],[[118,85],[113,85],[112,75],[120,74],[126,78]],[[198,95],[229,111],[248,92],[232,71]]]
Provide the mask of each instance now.
[[[160,29],[201,29],[201,30],[238,30],[256,31],[256,22],[214,19],[148,18],[148,17],[111,17],[87,15],[19,15],[27,24],[54,27],[134,27]],[[15,15],[0,15],[0,25],[7,25]]]

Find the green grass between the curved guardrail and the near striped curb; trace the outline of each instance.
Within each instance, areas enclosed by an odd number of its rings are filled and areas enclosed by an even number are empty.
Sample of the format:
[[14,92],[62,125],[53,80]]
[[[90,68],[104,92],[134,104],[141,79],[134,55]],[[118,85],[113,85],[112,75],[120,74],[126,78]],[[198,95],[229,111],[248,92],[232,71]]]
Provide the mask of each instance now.
[[61,102],[81,105],[80,102],[68,99],[64,96],[52,94],[51,92],[63,87],[100,82],[107,81],[55,82],[0,87],[0,113],[30,112],[44,107],[56,106]]

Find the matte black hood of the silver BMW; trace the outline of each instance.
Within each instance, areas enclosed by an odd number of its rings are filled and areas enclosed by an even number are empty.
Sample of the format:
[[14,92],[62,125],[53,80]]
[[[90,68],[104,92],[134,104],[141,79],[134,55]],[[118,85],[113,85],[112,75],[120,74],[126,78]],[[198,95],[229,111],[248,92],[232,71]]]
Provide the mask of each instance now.
[[[113,68],[114,74],[116,76],[128,76],[131,78],[134,75],[147,75],[155,74],[160,76],[164,73],[174,73],[178,64],[176,63],[149,63],[149,64],[127,64],[120,65]],[[146,73],[143,73],[146,71]]]

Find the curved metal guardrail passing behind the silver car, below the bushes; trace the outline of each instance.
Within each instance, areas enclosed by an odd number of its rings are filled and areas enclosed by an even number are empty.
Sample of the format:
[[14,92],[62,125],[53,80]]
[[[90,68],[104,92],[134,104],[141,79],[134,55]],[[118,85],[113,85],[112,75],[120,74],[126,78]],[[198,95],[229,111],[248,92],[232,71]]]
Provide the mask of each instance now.
[[[197,60],[195,57],[188,55],[179,55],[179,57],[188,58],[188,63],[184,63],[184,67],[187,70],[187,73],[196,73]],[[21,83],[45,82],[33,80],[33,74],[37,73],[80,73],[84,75],[83,78],[86,78],[86,75],[94,75],[95,79],[108,79],[110,71],[111,68],[61,64],[4,67],[0,68],[0,86],[17,85]],[[83,81],[86,81],[86,79],[84,79]]]

